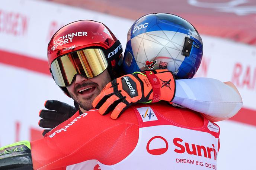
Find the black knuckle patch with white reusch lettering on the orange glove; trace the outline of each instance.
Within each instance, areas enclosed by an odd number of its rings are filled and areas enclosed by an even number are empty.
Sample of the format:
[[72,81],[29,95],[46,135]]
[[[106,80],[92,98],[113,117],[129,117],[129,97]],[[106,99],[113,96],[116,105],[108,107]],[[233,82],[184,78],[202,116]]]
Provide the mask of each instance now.
[[126,76],[122,78],[122,86],[124,91],[126,91],[130,97],[135,97],[138,95],[136,91],[136,83],[130,77]]

